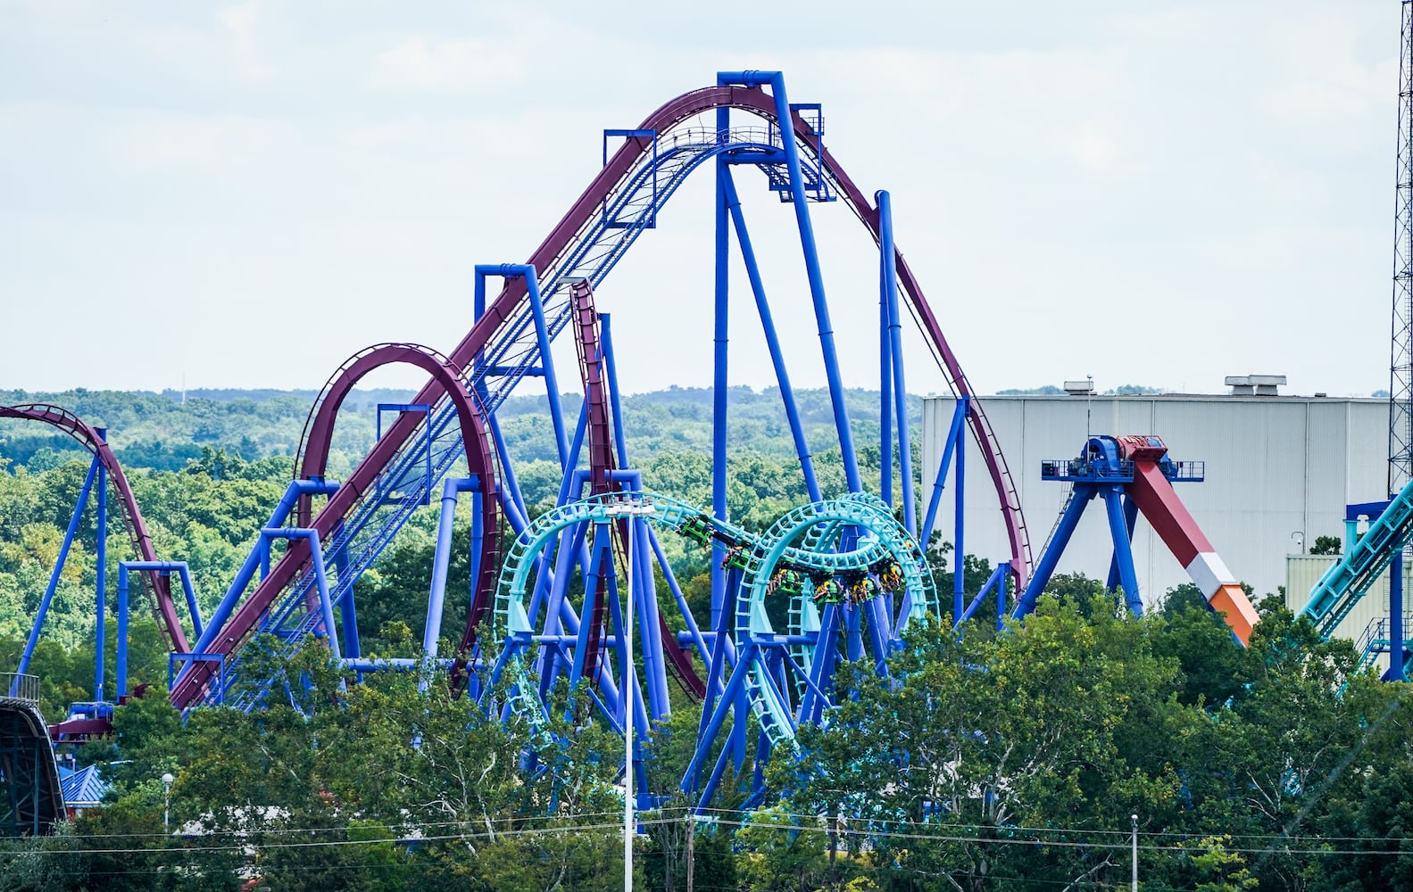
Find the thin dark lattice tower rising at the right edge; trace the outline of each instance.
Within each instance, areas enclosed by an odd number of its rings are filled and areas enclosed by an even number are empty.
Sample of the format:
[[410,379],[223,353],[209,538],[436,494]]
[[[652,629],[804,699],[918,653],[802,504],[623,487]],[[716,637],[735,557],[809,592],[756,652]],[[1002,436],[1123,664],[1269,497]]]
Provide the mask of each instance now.
[[1413,478],[1413,0],[1403,0],[1402,6],[1393,337],[1389,351],[1390,497]]

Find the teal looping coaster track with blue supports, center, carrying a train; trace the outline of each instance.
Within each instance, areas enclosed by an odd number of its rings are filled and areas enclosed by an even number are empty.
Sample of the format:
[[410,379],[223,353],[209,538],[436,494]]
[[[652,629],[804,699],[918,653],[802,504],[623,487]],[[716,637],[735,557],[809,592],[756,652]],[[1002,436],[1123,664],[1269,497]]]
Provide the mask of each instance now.
[[[537,682],[530,672],[530,665],[536,662],[530,658],[537,649],[544,652],[574,646],[572,677],[581,676],[585,648],[582,627],[578,637],[554,634],[552,615],[548,615],[554,611],[545,607],[541,613],[534,587],[530,586],[530,573],[537,566],[540,555],[552,548],[561,532],[574,526],[584,526],[585,532],[592,529],[595,536],[595,556],[589,567],[591,580],[585,584],[584,613],[585,615],[589,613],[589,598],[596,597],[596,593],[610,600],[613,610],[608,638],[616,645],[616,665],[619,668],[625,665],[623,620],[617,610],[620,579],[616,573],[617,560],[605,535],[613,531],[615,524],[623,517],[629,517],[629,522],[633,524],[646,522],[658,529],[673,531],[697,543],[716,539],[732,543],[728,558],[729,577],[733,580],[732,608],[723,611],[722,621],[715,629],[711,656],[699,631],[694,625],[690,628],[704,662],[711,665],[711,672],[701,738],[697,742],[697,755],[682,778],[682,789],[695,789],[699,783],[701,772],[709,766],[708,759],[716,748],[719,735],[726,733],[728,714],[735,716],[728,744],[721,747],[721,755],[715,766],[711,766],[702,788],[701,803],[711,800],[729,755],[733,754],[735,740],[745,738],[747,716],[760,727],[762,747],[767,751],[780,747],[788,749],[801,723],[817,723],[822,718],[834,703],[832,675],[841,658],[834,629],[841,625],[846,628],[849,659],[866,653],[879,666],[879,672],[886,672],[887,653],[900,645],[900,635],[907,624],[937,615],[937,597],[921,548],[897,524],[887,505],[873,495],[851,494],[801,505],[788,511],[760,535],[732,526],[701,508],[666,495],[649,493],[592,495],[540,515],[516,539],[502,565],[493,620],[493,637],[500,641],[500,653],[495,661],[492,685],[500,677],[512,682],[514,686],[512,700],[517,713],[530,717],[544,714],[544,679]],[[637,538],[651,545],[654,555],[661,560],[661,549],[656,546],[656,538],[646,526],[640,529]],[[636,625],[644,649],[643,670],[649,697],[644,703],[644,696],[636,685],[623,693],[609,689],[603,682],[612,679],[613,673],[605,670],[601,679],[601,707],[610,723],[620,723],[625,709],[633,710],[634,721],[661,720],[667,716],[666,701],[656,703],[661,697],[653,694],[664,683],[661,669],[654,663],[654,653],[661,652],[661,645],[651,644],[657,629],[651,610],[657,598],[651,587],[646,590],[639,587],[639,583],[651,579],[650,555],[647,549],[639,549],[623,559],[633,560],[636,566],[634,590],[629,594],[643,608],[640,613],[643,618]],[[887,576],[882,567],[892,567],[893,576]],[[592,584],[592,579],[599,573],[609,579],[609,584],[603,589]],[[875,577],[877,581],[873,581]],[[838,580],[855,589],[839,587]],[[839,597],[835,600],[821,597],[822,584],[834,586]],[[882,597],[894,590],[899,594],[896,613],[885,607],[886,600]],[[687,615],[680,593],[673,594]],[[780,598],[788,598],[788,629],[773,628],[766,608],[767,600]],[[820,604],[824,604],[822,621]],[[887,604],[892,604],[892,598]],[[729,661],[722,659],[726,651],[735,652]],[[729,670],[726,662],[733,663]],[[538,665],[543,666],[544,661],[538,661]],[[788,679],[793,679],[793,683]],[[483,707],[490,710],[502,706],[483,703]]]

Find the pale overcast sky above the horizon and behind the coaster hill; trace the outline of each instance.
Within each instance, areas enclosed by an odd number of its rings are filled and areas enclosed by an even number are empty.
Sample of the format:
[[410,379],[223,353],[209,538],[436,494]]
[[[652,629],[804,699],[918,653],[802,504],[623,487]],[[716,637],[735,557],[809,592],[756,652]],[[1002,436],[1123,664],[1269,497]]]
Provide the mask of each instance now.
[[[605,127],[760,68],[892,192],[979,392],[1282,373],[1368,395],[1397,51],[1396,0],[0,0],[0,388],[317,388],[370,343],[447,350],[473,264],[528,257]],[[791,373],[820,384],[793,216],[738,183]],[[709,189],[599,289],[625,390],[711,381]],[[812,210],[845,377],[876,387],[876,253]],[[733,299],[732,380],[770,384]],[[910,388],[941,391],[910,347]]]

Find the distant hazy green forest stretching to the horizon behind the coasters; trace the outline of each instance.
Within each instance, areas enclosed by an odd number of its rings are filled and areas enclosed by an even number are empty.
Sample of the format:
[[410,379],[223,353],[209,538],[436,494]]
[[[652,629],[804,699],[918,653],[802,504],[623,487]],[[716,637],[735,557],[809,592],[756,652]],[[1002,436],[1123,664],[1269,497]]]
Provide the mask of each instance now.
[[[52,402],[95,428],[105,428],[157,553],[189,565],[201,608],[209,613],[294,476],[292,456],[315,397],[312,391],[188,391],[185,395],[174,391],[0,391],[0,405]],[[335,428],[329,476],[342,477],[367,453],[379,430],[379,404],[401,404],[411,397],[406,391],[355,391],[345,399]],[[877,399],[876,392],[848,394],[861,442],[877,440]],[[797,401],[820,486],[825,495],[842,494],[845,480],[828,394],[800,391]],[[578,395],[564,395],[567,423],[574,423],[581,402]],[[729,408],[728,508],[736,524],[760,529],[807,501],[794,442],[780,411],[779,391],[732,388]],[[910,412],[914,419],[921,416],[918,398],[911,398]],[[674,387],[626,397],[627,460],[622,463],[642,470],[649,490],[708,505],[711,414],[709,390]],[[533,518],[554,505],[561,483],[545,399],[512,397],[497,411],[497,418]],[[384,415],[382,423],[389,419]],[[916,423],[913,456],[920,456]],[[877,446],[862,447],[859,460],[866,481],[876,488]],[[918,463],[914,460],[914,467]],[[66,433],[35,422],[0,419],[0,648],[4,641],[23,641],[32,622],[88,467],[88,453]],[[359,603],[372,604],[374,615],[408,620],[417,618],[418,610],[425,607],[437,512],[438,505],[420,508],[379,566],[360,580]],[[465,505],[458,518],[469,524]],[[92,638],[95,624],[96,525],[92,507],[81,522],[45,621],[45,642],[68,649],[82,648]],[[675,545],[670,548],[675,549],[674,556],[687,560],[684,579],[705,569],[699,558],[694,559]],[[114,507],[109,524],[109,579],[116,577],[117,562],[130,552]],[[461,591],[465,596],[465,589]],[[456,607],[448,604],[449,615]],[[465,597],[459,607],[465,608]],[[376,632],[377,625],[372,631]],[[8,652],[0,649],[0,655]],[[88,662],[92,663],[92,658]],[[165,680],[160,655],[157,663]],[[92,680],[86,686],[92,687]],[[51,703],[58,706],[75,699],[83,697],[57,692]]]

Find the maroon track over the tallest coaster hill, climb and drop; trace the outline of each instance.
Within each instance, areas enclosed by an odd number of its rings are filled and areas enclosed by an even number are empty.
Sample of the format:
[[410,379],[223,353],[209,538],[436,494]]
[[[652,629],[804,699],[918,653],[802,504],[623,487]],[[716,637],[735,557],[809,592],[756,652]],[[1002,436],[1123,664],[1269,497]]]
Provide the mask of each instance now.
[[[718,109],[745,112],[766,121],[777,121],[776,99],[771,93],[766,92],[760,86],[728,85],[702,88],[667,102],[653,112],[642,123],[639,130],[654,131],[658,134],[658,140],[661,140],[664,134],[682,121]],[[796,141],[814,151],[818,140],[810,124],[797,112],[791,114],[790,126]],[[625,179],[633,175],[639,162],[653,151],[654,140],[651,137],[627,137],[619,150],[608,159],[605,167],[593,178],[584,193],[569,207],[568,213],[564,215],[560,223],[530,255],[528,265],[540,274],[555,268],[557,261],[561,260],[572,247],[577,247],[575,239],[585,231],[592,217],[602,212],[609,196],[615,195],[616,189],[625,182]],[[859,188],[848,178],[842,167],[839,167],[839,164],[829,154],[828,148],[821,148],[818,151],[818,158],[825,175],[836,186],[838,193],[849,205],[855,216],[858,216],[859,220],[869,229],[875,241],[877,241],[880,239],[877,207],[868,202],[863,192],[859,191]],[[896,261],[899,282],[903,287],[910,312],[923,329],[928,346],[934,351],[938,366],[944,371],[948,384],[955,395],[971,397],[971,384],[968,382],[957,356],[947,343],[941,326],[938,325],[931,308],[927,305],[921,288],[918,287],[911,270],[907,267],[901,251],[897,251]],[[490,344],[504,327],[517,322],[517,311],[523,309],[527,294],[528,287],[524,277],[507,277],[506,285],[500,294],[489,303],[489,306],[486,306],[476,325],[448,354],[449,363],[456,368],[471,370],[487,344]],[[445,392],[444,384],[434,378],[417,394],[414,402],[439,405]],[[1005,457],[1000,453],[995,433],[986,421],[985,412],[975,401],[971,402],[968,422],[998,493],[1002,517],[1010,542],[1010,570],[1016,579],[1017,590],[1023,590],[1030,570],[1030,543],[1026,534],[1024,518],[1020,511],[1019,494]],[[398,450],[413,436],[420,423],[420,419],[404,415],[389,428],[383,439],[373,446],[369,454],[362,463],[359,463],[353,473],[349,474],[339,490],[329,497],[324,510],[312,518],[309,525],[321,538],[326,538],[333,534],[343,518],[348,517],[365,494],[372,490],[379,478],[379,474],[382,474],[383,469],[396,459]],[[326,439],[331,433],[332,425],[332,414],[326,418],[321,416],[315,419],[315,425],[312,426],[309,435],[311,439]],[[300,577],[304,567],[308,565],[309,553],[311,550],[307,542],[292,542],[281,560],[271,567],[270,574],[260,581],[256,590],[246,600],[242,610],[232,617],[232,621],[226,624],[226,628],[222,629],[218,639],[213,641],[212,646],[206,648],[206,651],[215,653],[233,652],[256,628],[260,615],[276,603],[291,581]],[[483,596],[478,591],[476,598],[473,600],[480,597]],[[172,701],[182,709],[198,701],[202,697],[206,680],[211,677],[212,672],[212,663],[209,662],[194,663],[174,685],[171,692]]]

